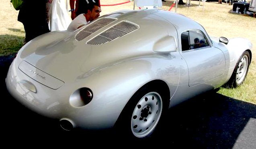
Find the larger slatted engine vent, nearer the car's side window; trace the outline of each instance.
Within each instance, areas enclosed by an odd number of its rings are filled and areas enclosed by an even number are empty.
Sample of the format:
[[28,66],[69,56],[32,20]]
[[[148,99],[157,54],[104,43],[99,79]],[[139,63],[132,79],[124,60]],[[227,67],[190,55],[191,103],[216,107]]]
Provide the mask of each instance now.
[[92,38],[86,44],[99,45],[104,44],[106,42],[110,42],[117,38],[120,38],[128,33],[131,33],[135,30],[139,29],[137,24],[134,24],[129,21],[122,21],[119,24],[109,28],[98,36]]

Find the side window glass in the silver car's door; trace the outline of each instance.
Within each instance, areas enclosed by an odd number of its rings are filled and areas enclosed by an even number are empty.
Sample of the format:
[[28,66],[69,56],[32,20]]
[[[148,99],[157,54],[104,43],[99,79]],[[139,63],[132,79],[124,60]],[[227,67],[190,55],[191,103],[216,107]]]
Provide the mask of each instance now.
[[198,30],[189,30],[181,34],[182,51],[209,46],[205,36]]

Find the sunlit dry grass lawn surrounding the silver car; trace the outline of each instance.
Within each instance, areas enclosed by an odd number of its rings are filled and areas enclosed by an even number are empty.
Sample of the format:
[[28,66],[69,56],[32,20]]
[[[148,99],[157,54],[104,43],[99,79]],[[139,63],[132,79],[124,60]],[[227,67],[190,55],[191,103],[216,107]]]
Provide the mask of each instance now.
[[[116,4],[127,0],[100,0],[101,4]],[[184,1],[186,2],[186,1]],[[173,1],[163,2],[161,9],[168,10]],[[254,48],[252,50],[252,62],[246,81],[238,88],[221,87],[218,93],[233,99],[256,104],[256,18],[242,14],[230,13],[233,5],[218,2],[203,2],[192,0],[192,6],[178,5],[177,13],[183,14],[199,22],[208,34],[215,37],[227,38],[242,37],[249,39]],[[118,6],[102,6],[101,15],[120,9],[133,9],[133,2]],[[135,7],[135,9],[139,9]],[[171,10],[175,11],[175,6]],[[17,21],[18,11],[10,5],[9,0],[2,2],[0,11],[0,56],[16,53],[23,45],[25,36],[23,24]],[[28,16],[29,17],[29,16]]]

